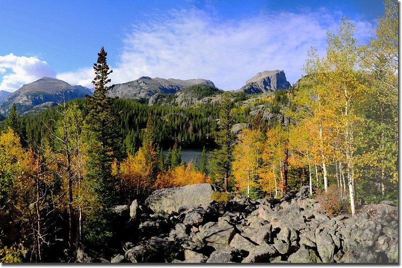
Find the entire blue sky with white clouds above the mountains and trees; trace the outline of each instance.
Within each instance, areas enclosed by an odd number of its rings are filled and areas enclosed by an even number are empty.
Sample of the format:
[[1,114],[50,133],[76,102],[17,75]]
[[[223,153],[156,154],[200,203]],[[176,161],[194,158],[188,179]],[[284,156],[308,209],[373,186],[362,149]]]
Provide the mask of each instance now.
[[43,76],[92,87],[100,46],[112,83],[204,78],[233,90],[274,69],[294,83],[310,47],[324,55],[326,32],[343,16],[366,44],[382,14],[381,0],[2,0],[0,90]]

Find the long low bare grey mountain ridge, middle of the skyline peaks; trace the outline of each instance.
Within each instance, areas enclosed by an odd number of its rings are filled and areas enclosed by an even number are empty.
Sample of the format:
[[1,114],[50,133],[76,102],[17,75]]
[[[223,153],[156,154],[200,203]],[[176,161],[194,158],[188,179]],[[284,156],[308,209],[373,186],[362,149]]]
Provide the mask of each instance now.
[[150,98],[157,93],[176,93],[180,89],[198,84],[215,86],[212,81],[205,79],[179,80],[143,76],[131,82],[113,85],[108,95],[124,99]]

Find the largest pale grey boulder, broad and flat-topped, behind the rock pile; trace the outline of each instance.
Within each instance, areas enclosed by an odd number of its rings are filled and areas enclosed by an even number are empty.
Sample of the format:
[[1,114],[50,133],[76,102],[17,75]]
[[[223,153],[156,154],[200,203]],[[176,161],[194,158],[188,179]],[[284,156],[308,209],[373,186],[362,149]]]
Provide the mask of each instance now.
[[210,203],[215,188],[208,183],[186,185],[184,187],[156,190],[145,200],[145,204],[154,212],[178,211],[181,205],[199,205]]

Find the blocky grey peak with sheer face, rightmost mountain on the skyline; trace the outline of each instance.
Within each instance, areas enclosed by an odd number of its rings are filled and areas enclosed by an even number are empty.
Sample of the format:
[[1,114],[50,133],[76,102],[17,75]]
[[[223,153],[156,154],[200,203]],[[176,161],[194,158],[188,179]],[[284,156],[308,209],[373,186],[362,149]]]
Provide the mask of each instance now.
[[271,92],[290,88],[285,73],[279,70],[264,71],[256,74],[253,78],[246,81],[246,85],[239,91],[247,94]]

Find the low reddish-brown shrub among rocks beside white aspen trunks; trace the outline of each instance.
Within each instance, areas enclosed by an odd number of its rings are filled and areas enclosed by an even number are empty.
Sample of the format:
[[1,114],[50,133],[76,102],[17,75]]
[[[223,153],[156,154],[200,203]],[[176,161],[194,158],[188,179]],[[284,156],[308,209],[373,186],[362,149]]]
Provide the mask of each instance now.
[[317,190],[316,200],[320,208],[324,209],[328,215],[337,215],[348,211],[347,201],[341,199],[338,186],[333,184],[328,187],[327,192]]

